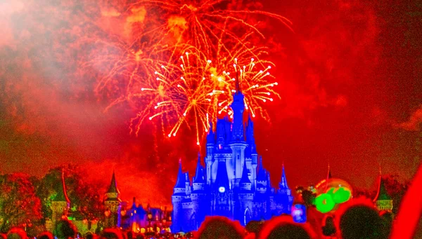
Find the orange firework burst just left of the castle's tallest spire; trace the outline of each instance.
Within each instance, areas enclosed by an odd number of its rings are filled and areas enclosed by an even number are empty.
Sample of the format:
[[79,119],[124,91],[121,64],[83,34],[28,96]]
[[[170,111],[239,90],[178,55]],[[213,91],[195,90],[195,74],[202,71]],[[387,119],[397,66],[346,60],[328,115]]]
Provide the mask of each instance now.
[[162,65],[154,72],[155,78],[142,87],[136,97],[149,103],[132,118],[131,128],[139,132],[147,118],[162,125],[163,134],[175,137],[182,125],[196,131],[199,145],[203,132],[215,121],[218,96],[224,90],[213,87],[210,69],[212,61],[198,51],[186,51],[179,57],[179,65]]

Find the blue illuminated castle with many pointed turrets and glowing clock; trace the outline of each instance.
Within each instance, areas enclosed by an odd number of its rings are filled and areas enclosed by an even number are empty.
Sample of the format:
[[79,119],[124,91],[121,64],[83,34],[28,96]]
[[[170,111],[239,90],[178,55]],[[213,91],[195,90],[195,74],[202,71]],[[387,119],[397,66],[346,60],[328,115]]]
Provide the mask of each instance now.
[[288,188],[284,167],[279,189],[271,186],[269,172],[258,160],[253,123],[243,122],[243,94],[238,83],[231,104],[233,122],[217,120],[207,135],[205,168],[196,166],[192,182],[188,172],[179,174],[172,196],[172,231],[195,231],[205,216],[219,215],[245,225],[250,220],[269,219],[290,214],[293,196]]

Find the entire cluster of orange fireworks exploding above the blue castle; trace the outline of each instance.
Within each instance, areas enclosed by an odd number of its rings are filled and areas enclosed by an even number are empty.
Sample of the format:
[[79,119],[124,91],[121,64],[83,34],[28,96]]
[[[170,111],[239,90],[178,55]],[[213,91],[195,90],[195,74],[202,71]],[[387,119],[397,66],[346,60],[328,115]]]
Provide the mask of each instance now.
[[231,116],[234,78],[243,86],[252,116],[259,112],[268,118],[263,103],[279,97],[269,75],[274,64],[263,60],[268,53],[255,17],[273,18],[288,28],[290,22],[249,8],[254,6],[226,0],[126,3],[122,13],[108,14],[128,16],[129,36],[99,30],[90,38],[93,50],[82,69],[95,69],[91,77],[97,95],[109,100],[106,111],[117,104],[137,111],[131,133],[139,135],[141,125],[151,121],[162,135],[174,137],[186,125],[199,144],[219,114]]

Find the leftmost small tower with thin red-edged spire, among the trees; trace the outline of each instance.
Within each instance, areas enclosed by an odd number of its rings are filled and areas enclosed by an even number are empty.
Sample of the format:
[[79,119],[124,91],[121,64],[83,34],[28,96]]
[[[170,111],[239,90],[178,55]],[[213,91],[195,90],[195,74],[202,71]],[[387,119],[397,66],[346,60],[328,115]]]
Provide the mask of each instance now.
[[51,201],[51,211],[53,212],[51,224],[53,228],[56,226],[57,221],[63,217],[68,216],[70,207],[70,200],[66,192],[65,172],[62,170],[60,189],[58,189],[56,197]]

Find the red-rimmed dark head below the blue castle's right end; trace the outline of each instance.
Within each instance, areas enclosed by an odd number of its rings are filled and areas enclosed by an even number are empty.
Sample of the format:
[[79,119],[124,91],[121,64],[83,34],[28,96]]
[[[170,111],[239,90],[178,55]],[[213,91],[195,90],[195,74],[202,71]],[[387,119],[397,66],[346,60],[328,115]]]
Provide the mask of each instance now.
[[312,239],[314,232],[307,224],[298,224],[291,217],[274,217],[267,221],[260,233],[262,239]]

